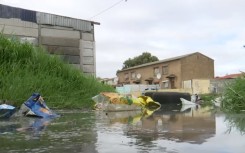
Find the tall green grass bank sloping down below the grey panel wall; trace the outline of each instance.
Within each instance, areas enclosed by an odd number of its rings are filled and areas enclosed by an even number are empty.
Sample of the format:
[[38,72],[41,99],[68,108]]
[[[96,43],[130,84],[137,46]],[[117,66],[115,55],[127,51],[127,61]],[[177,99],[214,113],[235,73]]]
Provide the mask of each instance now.
[[3,34],[0,34],[0,61],[0,100],[8,100],[17,107],[33,92],[39,92],[50,107],[89,108],[93,96],[114,91],[58,56]]

